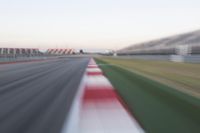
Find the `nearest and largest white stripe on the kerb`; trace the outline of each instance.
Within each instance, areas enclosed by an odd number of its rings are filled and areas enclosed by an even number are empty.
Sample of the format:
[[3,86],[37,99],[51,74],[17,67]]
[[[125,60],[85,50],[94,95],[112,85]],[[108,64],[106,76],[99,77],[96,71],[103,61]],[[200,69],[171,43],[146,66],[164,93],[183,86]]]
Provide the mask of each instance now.
[[80,133],[144,133],[117,100],[85,103],[79,129]]

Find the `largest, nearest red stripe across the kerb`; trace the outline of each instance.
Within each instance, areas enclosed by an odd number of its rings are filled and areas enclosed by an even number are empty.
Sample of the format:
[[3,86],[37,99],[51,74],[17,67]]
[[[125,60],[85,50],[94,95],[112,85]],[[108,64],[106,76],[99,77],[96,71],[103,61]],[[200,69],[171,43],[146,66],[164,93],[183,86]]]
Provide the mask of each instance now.
[[106,99],[117,99],[117,94],[112,89],[86,89],[84,94],[84,101],[95,101],[95,100],[106,100]]

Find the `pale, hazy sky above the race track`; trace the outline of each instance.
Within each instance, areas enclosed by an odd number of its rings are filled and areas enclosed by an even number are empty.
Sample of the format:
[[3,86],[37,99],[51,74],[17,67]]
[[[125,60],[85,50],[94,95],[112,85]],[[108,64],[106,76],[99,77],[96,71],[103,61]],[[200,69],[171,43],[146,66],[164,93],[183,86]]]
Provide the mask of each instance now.
[[0,47],[120,49],[200,29],[200,0],[0,0]]

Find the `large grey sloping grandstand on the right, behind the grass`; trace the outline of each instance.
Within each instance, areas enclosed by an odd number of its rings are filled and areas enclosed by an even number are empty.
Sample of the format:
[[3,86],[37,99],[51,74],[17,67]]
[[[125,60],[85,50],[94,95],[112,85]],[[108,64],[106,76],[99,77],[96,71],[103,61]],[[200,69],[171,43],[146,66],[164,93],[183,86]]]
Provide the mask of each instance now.
[[200,30],[138,43],[117,51],[118,55],[200,54]]

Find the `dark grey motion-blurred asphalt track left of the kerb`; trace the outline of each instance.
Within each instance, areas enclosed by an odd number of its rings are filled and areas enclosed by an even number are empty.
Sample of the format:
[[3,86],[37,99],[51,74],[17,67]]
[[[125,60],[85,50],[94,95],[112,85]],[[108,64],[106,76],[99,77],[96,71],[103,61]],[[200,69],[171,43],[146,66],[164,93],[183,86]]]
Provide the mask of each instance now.
[[88,61],[0,65],[0,133],[60,133]]

